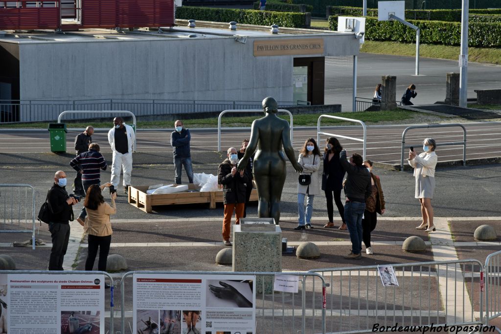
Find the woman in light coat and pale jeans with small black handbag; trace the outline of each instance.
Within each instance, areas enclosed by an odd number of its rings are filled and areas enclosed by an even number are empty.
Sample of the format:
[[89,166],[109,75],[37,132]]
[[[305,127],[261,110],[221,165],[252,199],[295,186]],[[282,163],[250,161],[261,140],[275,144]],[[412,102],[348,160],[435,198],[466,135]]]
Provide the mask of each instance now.
[[[311,181],[309,184],[301,184],[298,180],[298,226],[295,230],[305,228],[313,228],[311,218],[313,213],[313,198],[320,193],[320,180],[318,176],[318,169],[322,157],[318,148],[317,142],[313,138],[308,138],[305,145],[301,150],[298,158],[299,164],[303,167],[303,172],[300,175],[309,175]],[[304,182],[303,182],[304,183]],[[305,210],[305,197],[306,210]]]

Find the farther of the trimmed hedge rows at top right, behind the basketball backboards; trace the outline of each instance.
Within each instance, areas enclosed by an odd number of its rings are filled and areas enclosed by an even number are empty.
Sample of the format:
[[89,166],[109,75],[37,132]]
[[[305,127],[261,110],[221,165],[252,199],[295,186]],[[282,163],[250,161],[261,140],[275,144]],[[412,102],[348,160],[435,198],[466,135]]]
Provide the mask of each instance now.
[[[346,7],[346,6],[329,6],[327,12],[331,15],[340,16],[362,16],[363,9],[361,7]],[[367,9],[367,16],[376,16],[377,9]],[[469,16],[476,14],[501,14],[501,9],[470,9]],[[407,9],[405,10],[406,19],[422,19],[431,21],[449,21],[449,22],[460,22],[461,21],[461,9],[431,9],[431,10],[421,10],[421,9]],[[478,22],[479,20],[477,20]],[[481,22],[497,22],[497,20],[483,20]]]

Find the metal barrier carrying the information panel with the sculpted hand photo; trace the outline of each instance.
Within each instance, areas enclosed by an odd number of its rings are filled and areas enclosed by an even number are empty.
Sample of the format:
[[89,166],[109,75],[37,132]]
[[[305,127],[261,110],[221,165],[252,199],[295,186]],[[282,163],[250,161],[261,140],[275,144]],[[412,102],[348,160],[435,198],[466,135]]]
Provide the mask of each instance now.
[[[322,275],[308,272],[200,272],[200,271],[129,271],[121,279],[121,314],[122,334],[132,334],[132,326],[126,326],[126,304],[134,293],[126,291],[125,281],[133,274],[174,274],[185,278],[199,278],[201,275],[211,276],[242,276],[254,275],[256,282],[256,334],[279,333],[283,334],[301,332],[325,333],[325,290],[326,284]],[[191,276],[190,276],[191,275]],[[295,292],[273,292],[273,278],[275,275],[293,275],[299,277],[299,290]],[[157,277],[157,276],[155,276]],[[222,278],[221,278],[222,279]],[[267,282],[265,282],[267,281]],[[271,281],[270,293],[265,290],[265,284]],[[155,307],[152,306],[152,309]],[[129,317],[130,318],[130,317]],[[129,331],[130,329],[130,331]],[[233,331],[232,331],[233,332]]]

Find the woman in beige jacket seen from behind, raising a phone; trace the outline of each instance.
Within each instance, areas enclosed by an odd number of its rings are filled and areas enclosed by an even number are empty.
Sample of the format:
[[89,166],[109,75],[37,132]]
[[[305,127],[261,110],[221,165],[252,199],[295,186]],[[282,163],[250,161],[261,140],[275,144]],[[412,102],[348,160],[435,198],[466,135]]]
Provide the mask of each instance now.
[[92,270],[96,260],[97,250],[99,248],[98,270],[106,271],[106,260],[110,251],[111,243],[111,222],[110,215],[117,213],[115,198],[117,193],[111,194],[111,205],[104,201],[102,190],[111,185],[106,183],[101,186],[92,184],[87,189],[84,206],[87,209],[84,230],[88,235],[87,260],[85,261],[85,270]]

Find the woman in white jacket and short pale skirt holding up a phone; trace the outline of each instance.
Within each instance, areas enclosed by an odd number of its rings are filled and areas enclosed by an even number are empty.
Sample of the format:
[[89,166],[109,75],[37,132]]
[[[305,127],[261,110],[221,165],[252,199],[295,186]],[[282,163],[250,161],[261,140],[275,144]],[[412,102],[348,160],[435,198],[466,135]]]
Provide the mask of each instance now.
[[423,140],[423,151],[417,155],[413,150],[409,151],[409,164],[414,167],[414,177],[416,178],[415,197],[421,203],[421,215],[423,221],[416,229],[426,229],[426,232],[435,230],[433,224],[433,207],[431,199],[435,191],[435,166],[437,164],[437,154],[435,153],[436,142],[433,138]]

